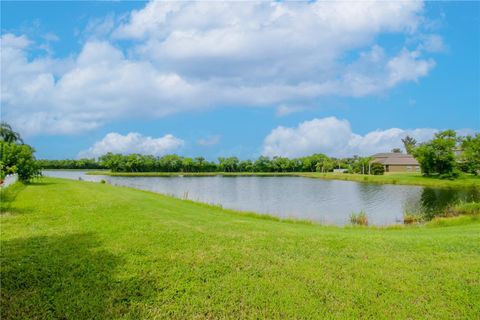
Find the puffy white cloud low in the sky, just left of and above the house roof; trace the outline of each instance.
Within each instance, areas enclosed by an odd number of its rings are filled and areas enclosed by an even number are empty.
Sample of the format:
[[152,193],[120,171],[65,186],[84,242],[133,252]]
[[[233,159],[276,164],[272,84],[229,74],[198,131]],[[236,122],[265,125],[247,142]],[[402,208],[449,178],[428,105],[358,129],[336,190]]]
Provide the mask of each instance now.
[[403,148],[401,139],[409,135],[418,142],[429,140],[438,130],[432,128],[375,130],[365,135],[352,131],[347,120],[335,117],[313,119],[297,127],[277,127],[265,138],[262,154],[300,157],[324,153],[334,157],[367,156]]

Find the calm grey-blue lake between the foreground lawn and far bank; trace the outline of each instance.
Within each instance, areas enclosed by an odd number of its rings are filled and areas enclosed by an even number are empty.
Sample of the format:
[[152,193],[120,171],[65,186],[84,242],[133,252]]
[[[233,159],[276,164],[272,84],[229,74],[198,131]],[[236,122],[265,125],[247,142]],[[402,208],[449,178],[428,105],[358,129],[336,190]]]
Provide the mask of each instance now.
[[478,189],[429,188],[303,177],[110,177],[45,170],[49,177],[127,186],[181,199],[280,218],[345,225],[364,211],[371,225],[403,222],[404,212],[435,212],[457,201],[480,201]]

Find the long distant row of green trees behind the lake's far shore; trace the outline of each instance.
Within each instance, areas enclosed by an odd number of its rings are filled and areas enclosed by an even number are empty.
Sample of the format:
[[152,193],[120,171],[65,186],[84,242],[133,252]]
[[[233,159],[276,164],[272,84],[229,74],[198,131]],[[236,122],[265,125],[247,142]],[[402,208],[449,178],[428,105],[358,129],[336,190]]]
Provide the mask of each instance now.
[[113,172],[329,172],[344,169],[352,173],[382,174],[383,166],[370,163],[370,157],[330,158],[324,154],[289,159],[260,156],[256,160],[220,157],[208,161],[204,157],[162,157],[142,154],[107,153],[95,159],[39,160],[44,169],[110,169]]

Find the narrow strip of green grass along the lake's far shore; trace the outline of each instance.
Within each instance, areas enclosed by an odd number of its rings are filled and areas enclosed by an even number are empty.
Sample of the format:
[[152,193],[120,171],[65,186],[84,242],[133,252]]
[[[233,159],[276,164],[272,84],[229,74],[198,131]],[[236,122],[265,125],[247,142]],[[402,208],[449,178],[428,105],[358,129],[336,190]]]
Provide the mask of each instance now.
[[171,176],[297,176],[318,179],[332,179],[357,181],[381,184],[418,185],[427,187],[475,187],[480,188],[480,176],[463,174],[458,179],[446,180],[438,177],[424,177],[419,173],[386,173],[381,176],[344,174],[344,173],[319,173],[319,172],[108,172],[93,171],[92,175],[109,175],[119,177],[171,177]]

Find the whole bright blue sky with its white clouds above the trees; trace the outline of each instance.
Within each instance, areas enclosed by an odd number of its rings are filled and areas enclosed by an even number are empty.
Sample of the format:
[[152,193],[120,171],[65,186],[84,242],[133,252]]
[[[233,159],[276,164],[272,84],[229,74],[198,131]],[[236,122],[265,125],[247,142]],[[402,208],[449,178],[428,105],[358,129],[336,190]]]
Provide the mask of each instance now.
[[480,129],[480,4],[2,2],[39,158],[368,154]]

